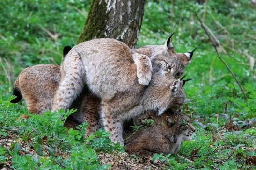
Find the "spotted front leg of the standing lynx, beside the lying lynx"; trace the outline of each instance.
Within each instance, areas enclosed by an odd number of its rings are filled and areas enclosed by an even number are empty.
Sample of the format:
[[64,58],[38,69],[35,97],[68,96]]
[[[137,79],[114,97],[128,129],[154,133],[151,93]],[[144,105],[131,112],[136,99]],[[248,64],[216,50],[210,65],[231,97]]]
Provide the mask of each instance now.
[[114,143],[120,142],[120,145],[124,146],[122,122],[106,104],[101,106],[100,121],[102,127],[110,132],[111,141]]

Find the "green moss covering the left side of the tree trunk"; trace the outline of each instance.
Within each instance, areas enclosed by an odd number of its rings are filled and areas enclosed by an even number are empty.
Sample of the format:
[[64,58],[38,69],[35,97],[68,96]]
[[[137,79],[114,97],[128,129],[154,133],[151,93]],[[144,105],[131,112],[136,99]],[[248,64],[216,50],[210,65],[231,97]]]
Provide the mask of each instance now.
[[[99,2],[101,4],[99,4]],[[77,43],[91,40],[95,37],[103,38],[108,18],[107,4],[104,0],[93,0],[83,31]]]

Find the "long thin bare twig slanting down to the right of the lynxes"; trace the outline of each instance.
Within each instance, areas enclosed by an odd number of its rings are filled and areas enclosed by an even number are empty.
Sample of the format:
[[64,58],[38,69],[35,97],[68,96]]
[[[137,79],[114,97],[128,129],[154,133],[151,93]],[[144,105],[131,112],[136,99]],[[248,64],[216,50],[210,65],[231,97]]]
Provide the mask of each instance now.
[[205,30],[205,33],[206,33],[206,35],[208,36],[208,38],[210,39],[210,41],[212,42],[212,45],[213,45],[213,47],[215,48],[215,51],[216,51],[216,54],[217,54],[217,56],[219,57],[219,59],[220,59],[220,61],[226,66],[226,68],[227,68],[227,70],[231,73],[231,75],[233,76],[233,78],[235,79],[235,81],[236,81],[236,83],[238,84],[238,86],[240,87],[240,89],[241,89],[241,91],[242,91],[242,93],[243,93],[243,95],[244,95],[244,98],[245,99],[247,99],[247,96],[246,96],[246,94],[245,94],[245,92],[244,92],[244,90],[243,90],[243,87],[241,86],[241,84],[239,83],[239,81],[238,81],[238,79],[236,78],[236,76],[234,75],[234,73],[233,73],[233,71],[231,71],[231,69],[229,68],[229,66],[227,65],[227,63],[223,60],[223,58],[222,57],[220,57],[220,55],[219,55],[219,51],[218,51],[218,46],[220,45],[220,43],[219,43],[219,40],[213,35],[213,33],[211,33],[212,34],[212,36],[214,36],[215,38],[214,38],[214,40],[216,41],[215,43],[212,41],[212,38],[211,38],[211,36],[210,36],[210,34],[209,34],[209,31],[210,31],[210,29],[208,28],[206,28],[206,26],[205,26],[205,24],[201,21],[201,19],[198,17],[198,15],[197,15],[197,13],[195,13],[196,14],[196,16],[197,16],[197,19],[198,19],[198,21],[200,22],[200,24],[201,24],[201,27]]

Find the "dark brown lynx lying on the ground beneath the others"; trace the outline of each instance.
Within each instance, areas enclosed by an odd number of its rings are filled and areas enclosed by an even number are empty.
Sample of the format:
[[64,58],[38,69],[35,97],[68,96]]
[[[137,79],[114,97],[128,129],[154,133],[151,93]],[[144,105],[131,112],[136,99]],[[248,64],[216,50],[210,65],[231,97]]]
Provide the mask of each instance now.
[[[139,116],[134,122],[135,125],[145,125],[145,120],[152,119],[149,127],[141,128],[131,136],[125,145],[128,153],[135,154],[176,154],[184,140],[190,140],[195,128],[191,125],[190,119],[185,114],[166,111],[161,116],[154,113]],[[129,136],[129,135],[128,135]]]

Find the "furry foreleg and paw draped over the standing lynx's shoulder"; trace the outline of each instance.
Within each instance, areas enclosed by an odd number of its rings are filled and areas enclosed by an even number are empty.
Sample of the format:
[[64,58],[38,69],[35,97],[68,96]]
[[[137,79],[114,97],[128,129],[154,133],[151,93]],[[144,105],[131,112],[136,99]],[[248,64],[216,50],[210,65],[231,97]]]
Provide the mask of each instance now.
[[152,64],[148,56],[134,52],[133,61],[137,66],[139,84],[148,85],[152,75]]

